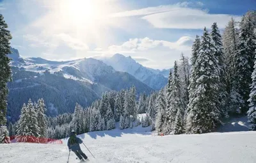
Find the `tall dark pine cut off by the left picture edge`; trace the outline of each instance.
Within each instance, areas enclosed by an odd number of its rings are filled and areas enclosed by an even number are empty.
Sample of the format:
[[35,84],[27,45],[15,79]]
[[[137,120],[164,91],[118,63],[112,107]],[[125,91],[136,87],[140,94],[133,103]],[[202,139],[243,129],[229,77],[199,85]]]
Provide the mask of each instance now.
[[7,54],[11,53],[10,40],[12,35],[7,28],[8,25],[4,21],[3,15],[0,14],[0,126],[6,125],[7,82],[11,80],[10,58],[8,58]]

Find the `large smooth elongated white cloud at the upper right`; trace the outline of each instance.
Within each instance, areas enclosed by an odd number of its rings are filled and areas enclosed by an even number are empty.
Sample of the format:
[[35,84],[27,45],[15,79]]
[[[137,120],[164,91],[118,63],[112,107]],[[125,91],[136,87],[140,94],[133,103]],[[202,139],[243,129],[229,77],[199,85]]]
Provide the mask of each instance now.
[[141,19],[147,20],[156,28],[172,29],[203,29],[205,26],[211,27],[213,22],[217,22],[219,28],[225,28],[231,17],[241,19],[237,15],[211,14],[203,10],[202,6],[204,3],[201,2],[184,2],[113,13],[110,17],[141,16]]

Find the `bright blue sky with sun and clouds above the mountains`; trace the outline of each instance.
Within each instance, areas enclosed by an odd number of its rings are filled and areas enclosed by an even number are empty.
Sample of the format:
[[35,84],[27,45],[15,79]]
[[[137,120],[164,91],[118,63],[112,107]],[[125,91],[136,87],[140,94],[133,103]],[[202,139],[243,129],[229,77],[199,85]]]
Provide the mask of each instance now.
[[170,68],[191,56],[204,27],[220,31],[255,0],[0,0],[0,13],[24,58],[54,61],[131,56],[150,68]]

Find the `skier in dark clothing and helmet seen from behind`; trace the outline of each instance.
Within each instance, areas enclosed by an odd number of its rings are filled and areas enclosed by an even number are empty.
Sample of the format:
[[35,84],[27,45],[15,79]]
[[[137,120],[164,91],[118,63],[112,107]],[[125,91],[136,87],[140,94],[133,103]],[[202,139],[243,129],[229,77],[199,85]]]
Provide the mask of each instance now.
[[79,137],[76,137],[76,132],[72,130],[70,138],[68,139],[68,150],[74,151],[74,153],[77,155],[81,162],[85,162],[85,160],[89,161],[88,157],[83,153],[80,148],[79,144],[82,143],[83,141]]

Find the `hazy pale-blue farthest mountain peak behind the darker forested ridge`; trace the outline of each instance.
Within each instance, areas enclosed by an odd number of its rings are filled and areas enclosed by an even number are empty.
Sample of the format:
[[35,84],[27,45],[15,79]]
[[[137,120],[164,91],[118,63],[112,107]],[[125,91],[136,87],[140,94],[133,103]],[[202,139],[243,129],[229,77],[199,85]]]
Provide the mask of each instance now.
[[163,88],[168,81],[163,75],[157,74],[157,70],[150,70],[140,65],[131,56],[125,57],[122,54],[115,54],[111,58],[103,58],[102,61],[109,66],[113,66],[116,71],[133,75],[153,89]]

